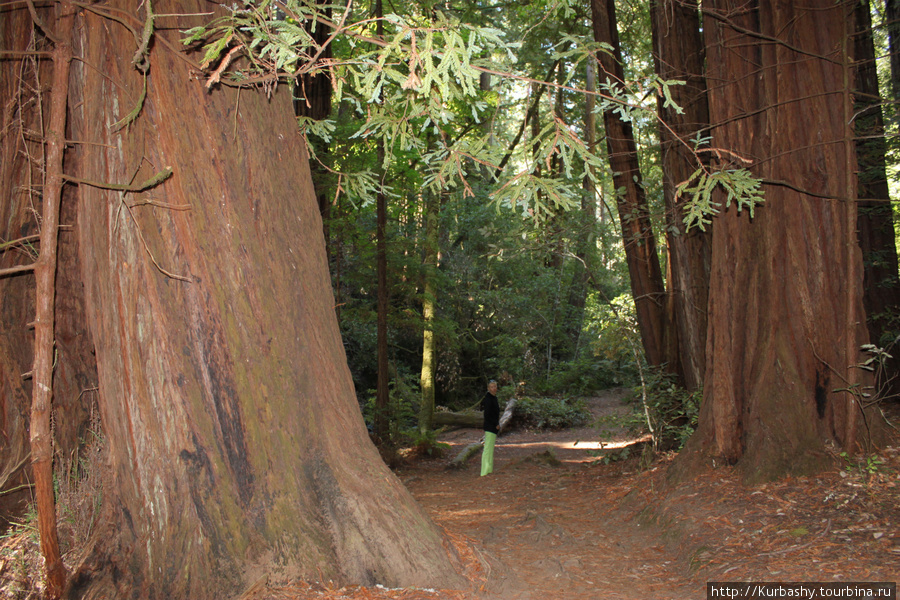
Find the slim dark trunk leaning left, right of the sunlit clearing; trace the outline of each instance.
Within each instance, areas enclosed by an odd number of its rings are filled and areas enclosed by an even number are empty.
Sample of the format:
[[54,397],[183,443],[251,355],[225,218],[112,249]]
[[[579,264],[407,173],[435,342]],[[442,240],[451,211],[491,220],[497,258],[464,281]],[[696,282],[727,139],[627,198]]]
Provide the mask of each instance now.
[[[619,48],[619,32],[616,26],[616,7],[613,0],[591,0],[591,20],[594,40],[609,44],[612,54],[599,52],[600,79],[609,79],[613,85],[625,81],[622,56]],[[637,146],[631,123],[623,121],[612,110],[604,111],[606,145],[609,150],[609,166],[613,172],[619,221],[622,225],[625,260],[631,276],[631,292],[634,296],[638,326],[644,354],[651,365],[661,365],[665,353],[665,286],[656,252],[656,237],[650,223],[647,198],[641,183]]]

